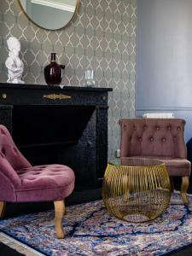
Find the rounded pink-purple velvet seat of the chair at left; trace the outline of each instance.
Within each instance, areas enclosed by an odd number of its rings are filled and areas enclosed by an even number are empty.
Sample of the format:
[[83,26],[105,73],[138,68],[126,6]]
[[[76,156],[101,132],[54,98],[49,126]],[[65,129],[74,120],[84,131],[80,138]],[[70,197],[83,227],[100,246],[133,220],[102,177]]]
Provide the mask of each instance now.
[[17,174],[21,184],[15,188],[15,201],[59,201],[74,188],[74,173],[68,166],[31,166]]

